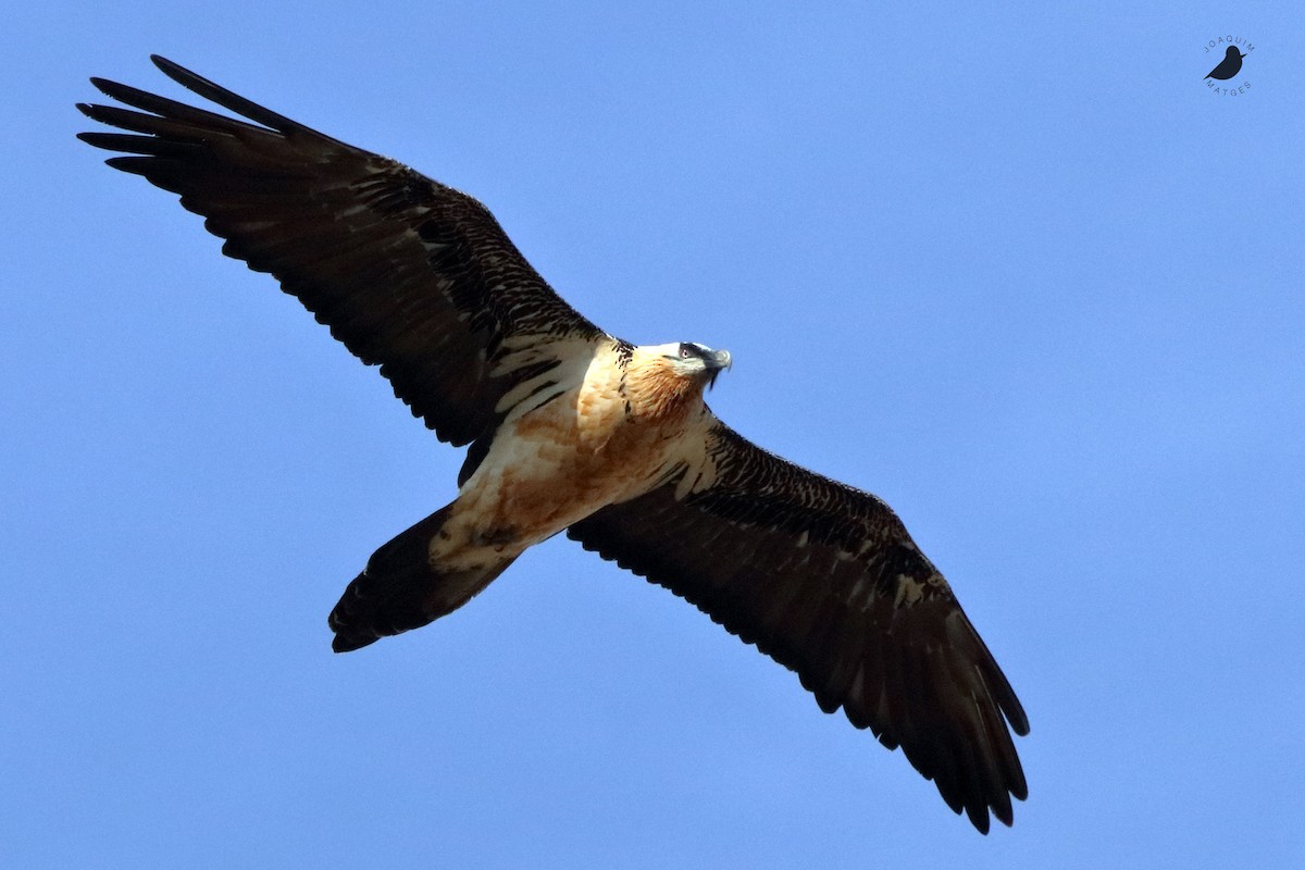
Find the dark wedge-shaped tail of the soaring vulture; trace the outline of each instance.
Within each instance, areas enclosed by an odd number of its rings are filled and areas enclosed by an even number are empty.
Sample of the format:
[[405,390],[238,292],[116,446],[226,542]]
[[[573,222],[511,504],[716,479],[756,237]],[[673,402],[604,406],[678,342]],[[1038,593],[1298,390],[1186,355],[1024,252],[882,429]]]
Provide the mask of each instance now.
[[457,571],[431,565],[431,539],[449,514],[444,507],[401,532],[367,561],[367,567],[345,590],[326,622],[335,652],[348,652],[381,638],[452,613],[488,586],[515,556],[501,562]]

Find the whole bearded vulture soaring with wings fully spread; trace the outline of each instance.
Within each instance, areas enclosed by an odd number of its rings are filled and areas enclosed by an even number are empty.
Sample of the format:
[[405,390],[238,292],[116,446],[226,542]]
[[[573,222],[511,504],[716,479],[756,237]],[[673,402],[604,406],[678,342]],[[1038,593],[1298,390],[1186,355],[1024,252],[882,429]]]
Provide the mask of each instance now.
[[1028,788],[1028,719],[951,588],[874,496],[757,447],[703,389],[729,353],[632,344],[568,305],[471,197],[162,57],[247,120],[93,78],[108,166],[180,194],[271,273],[436,437],[468,445],[458,496],[382,545],[329,623],[338,652],[470,601],[560,531],[697,605],[902,747],[979,831]]

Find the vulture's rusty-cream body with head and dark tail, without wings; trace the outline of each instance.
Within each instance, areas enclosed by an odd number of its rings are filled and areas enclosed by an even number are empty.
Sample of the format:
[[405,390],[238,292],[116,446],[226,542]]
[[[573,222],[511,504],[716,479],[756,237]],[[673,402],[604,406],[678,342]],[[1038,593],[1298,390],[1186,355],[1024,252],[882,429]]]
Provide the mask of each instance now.
[[[552,372],[553,393],[515,406],[484,458],[466,470],[458,497],[414,527],[412,545],[425,544],[422,567],[429,570],[412,573],[408,558],[395,571],[380,560],[345,592],[330,616],[335,648],[356,650],[452,612],[527,548],[608,505],[675,475],[702,480],[701,447],[716,420],[702,402],[702,381],[681,377],[667,359],[679,350],[603,340],[569,377]],[[719,359],[728,364],[728,355]],[[398,587],[390,586],[395,574]],[[428,597],[414,603],[414,595]],[[401,612],[392,616],[395,605]]]

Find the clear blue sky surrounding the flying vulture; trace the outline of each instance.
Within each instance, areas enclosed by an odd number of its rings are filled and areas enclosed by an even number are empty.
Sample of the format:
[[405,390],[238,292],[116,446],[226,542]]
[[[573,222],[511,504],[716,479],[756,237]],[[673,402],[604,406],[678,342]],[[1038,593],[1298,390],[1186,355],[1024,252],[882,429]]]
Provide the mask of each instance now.
[[[906,5],[7,4],[0,865],[1305,865],[1305,18]],[[732,351],[716,412],[889,501],[1014,683],[1015,827],[565,539],[331,655],[462,455],[73,138],[89,76],[183,94],[150,52]]]

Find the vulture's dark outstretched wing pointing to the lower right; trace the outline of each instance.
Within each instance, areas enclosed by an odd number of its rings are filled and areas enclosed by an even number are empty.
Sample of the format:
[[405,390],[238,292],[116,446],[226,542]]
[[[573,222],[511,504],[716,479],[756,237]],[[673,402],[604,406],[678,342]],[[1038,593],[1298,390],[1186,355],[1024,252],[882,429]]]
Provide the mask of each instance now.
[[825,712],[898,746],[980,831],[1028,794],[1028,719],[942,575],[868,493],[705,429],[705,460],[568,535],[796,670]]

